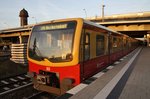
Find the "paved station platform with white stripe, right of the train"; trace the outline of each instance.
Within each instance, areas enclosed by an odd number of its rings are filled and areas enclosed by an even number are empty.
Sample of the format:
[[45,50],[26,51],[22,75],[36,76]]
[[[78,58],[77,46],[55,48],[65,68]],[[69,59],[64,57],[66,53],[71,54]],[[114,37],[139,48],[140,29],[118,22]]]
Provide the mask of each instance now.
[[150,47],[138,48],[58,99],[150,99]]

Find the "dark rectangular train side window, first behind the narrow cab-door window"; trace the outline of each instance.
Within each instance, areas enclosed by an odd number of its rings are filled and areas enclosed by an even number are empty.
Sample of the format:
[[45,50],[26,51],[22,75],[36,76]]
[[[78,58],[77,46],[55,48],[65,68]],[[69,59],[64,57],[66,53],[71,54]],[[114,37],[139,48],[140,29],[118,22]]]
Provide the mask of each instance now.
[[104,54],[104,36],[103,35],[97,35],[96,36],[96,56],[103,55]]

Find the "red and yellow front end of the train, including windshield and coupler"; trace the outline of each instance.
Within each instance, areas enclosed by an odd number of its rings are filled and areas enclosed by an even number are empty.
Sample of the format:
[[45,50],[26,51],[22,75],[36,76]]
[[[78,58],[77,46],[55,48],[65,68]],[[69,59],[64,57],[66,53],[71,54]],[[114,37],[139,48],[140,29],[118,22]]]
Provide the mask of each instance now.
[[60,95],[80,83],[77,24],[74,20],[34,26],[27,51],[34,88]]

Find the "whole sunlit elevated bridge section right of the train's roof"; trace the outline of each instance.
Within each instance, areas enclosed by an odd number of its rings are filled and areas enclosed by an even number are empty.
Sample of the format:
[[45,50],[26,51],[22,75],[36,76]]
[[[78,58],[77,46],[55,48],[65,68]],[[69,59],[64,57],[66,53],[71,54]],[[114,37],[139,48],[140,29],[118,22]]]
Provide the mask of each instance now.
[[142,38],[150,34],[150,12],[91,17],[87,20],[101,24],[131,37]]

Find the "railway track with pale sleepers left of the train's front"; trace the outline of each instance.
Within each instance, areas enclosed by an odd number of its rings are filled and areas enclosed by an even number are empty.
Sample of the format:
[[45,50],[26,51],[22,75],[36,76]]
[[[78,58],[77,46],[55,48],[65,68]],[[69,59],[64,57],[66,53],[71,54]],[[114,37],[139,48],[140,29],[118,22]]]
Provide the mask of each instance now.
[[31,79],[26,73],[0,79],[0,96],[31,85]]

